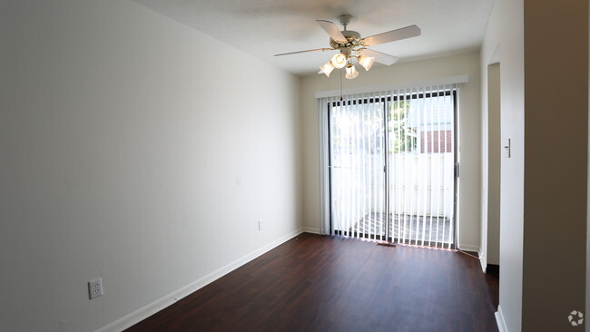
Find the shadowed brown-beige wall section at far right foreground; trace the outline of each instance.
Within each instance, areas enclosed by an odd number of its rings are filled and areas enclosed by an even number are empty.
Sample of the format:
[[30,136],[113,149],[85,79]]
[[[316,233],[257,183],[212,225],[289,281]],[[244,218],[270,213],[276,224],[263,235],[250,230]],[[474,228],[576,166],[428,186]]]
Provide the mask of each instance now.
[[588,2],[524,4],[522,327],[564,330],[585,311]]

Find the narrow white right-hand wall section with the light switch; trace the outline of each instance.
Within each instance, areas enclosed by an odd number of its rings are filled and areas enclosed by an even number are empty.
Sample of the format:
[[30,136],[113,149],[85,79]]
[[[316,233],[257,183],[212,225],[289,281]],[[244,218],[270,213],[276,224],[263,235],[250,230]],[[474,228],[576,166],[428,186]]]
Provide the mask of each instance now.
[[[501,159],[500,305],[509,331],[522,321],[524,197],[524,9],[522,1],[498,0],[482,45],[482,73],[500,49],[501,142],[511,139],[511,158]],[[484,55],[485,54],[485,55]],[[487,77],[482,81],[487,81]],[[483,96],[483,93],[482,93]],[[482,97],[483,99],[484,97]],[[486,97],[487,98],[487,97]],[[487,103],[487,102],[486,102]]]

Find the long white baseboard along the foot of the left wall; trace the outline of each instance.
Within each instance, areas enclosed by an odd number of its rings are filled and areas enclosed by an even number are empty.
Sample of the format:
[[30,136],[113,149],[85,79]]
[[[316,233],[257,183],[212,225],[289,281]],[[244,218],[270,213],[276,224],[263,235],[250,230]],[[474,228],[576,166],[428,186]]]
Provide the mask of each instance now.
[[241,259],[237,259],[231,262],[230,264],[222,267],[221,269],[217,269],[211,272],[210,274],[202,278],[199,278],[196,281],[193,281],[189,285],[186,285],[183,288],[180,288],[172,292],[171,294],[164,296],[163,298],[157,299],[149,305],[140,308],[139,310],[136,310],[127,316],[115,320],[113,323],[105,327],[97,329],[96,332],[123,331],[125,328],[132,327],[133,325],[141,322],[143,319],[152,316],[153,314],[162,310],[163,308],[167,308],[168,306],[172,305],[181,298],[184,298],[192,294],[194,291],[207,286],[211,282],[223,277],[224,275],[230,273],[234,269],[240,268],[242,265],[250,262],[252,259],[256,259],[262,254],[266,253],[267,251],[270,251],[271,249],[280,246],[284,242],[293,239],[294,237],[300,235],[303,231],[308,230],[297,229],[295,231],[292,231],[289,234],[270,242],[261,249],[256,249],[251,253],[247,254],[246,256],[243,256]]

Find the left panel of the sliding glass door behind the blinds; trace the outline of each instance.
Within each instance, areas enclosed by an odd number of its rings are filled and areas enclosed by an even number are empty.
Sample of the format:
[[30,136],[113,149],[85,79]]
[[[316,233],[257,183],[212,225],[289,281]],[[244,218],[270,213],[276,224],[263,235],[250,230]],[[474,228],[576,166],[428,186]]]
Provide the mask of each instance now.
[[329,109],[330,214],[338,234],[386,239],[385,105],[346,100]]

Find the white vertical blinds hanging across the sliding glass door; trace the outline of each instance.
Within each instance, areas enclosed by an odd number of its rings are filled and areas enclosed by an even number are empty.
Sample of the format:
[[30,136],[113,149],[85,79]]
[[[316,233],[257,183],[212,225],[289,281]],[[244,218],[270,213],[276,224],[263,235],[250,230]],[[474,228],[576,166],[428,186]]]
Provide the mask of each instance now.
[[320,98],[324,234],[455,244],[455,84]]

